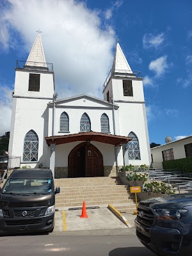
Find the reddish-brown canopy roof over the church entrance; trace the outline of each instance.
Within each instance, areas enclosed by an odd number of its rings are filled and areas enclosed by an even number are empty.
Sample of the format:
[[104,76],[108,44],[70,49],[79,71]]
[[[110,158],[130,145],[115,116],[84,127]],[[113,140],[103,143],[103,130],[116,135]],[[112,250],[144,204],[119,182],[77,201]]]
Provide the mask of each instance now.
[[111,144],[111,145],[122,145],[128,143],[132,138],[125,136],[117,136],[112,134],[104,134],[102,132],[79,132],[76,134],[60,135],[60,136],[50,136],[45,137],[47,145],[50,146],[52,143],[56,145],[70,143],[74,141],[98,141],[101,143]]

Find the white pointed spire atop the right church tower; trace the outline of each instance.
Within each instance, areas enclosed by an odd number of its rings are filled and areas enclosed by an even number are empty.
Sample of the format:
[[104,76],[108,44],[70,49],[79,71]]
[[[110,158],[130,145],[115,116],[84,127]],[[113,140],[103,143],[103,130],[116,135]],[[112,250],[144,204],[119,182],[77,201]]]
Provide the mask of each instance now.
[[116,44],[116,51],[113,60],[113,72],[132,73],[131,67],[129,66],[124,52],[118,43]]

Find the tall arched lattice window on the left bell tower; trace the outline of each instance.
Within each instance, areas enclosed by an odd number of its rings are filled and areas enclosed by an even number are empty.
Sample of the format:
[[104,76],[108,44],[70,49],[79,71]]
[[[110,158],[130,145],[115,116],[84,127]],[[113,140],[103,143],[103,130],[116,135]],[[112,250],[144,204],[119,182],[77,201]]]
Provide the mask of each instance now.
[[38,136],[33,130],[29,131],[24,138],[23,161],[38,161]]

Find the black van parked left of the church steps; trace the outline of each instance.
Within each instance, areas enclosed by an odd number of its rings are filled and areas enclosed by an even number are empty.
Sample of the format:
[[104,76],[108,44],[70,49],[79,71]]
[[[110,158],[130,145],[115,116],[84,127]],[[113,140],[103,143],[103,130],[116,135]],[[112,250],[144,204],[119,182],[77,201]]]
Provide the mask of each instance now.
[[51,170],[14,170],[0,188],[0,235],[52,232],[56,193]]

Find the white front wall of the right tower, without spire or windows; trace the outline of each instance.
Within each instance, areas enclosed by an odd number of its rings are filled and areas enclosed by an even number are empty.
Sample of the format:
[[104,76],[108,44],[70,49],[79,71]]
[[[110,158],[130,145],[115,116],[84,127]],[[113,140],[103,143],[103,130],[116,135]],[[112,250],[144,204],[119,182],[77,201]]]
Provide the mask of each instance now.
[[113,99],[115,100],[115,104],[119,106],[118,115],[115,115],[116,127],[119,124],[119,130],[116,128],[116,134],[128,136],[129,132],[134,132],[139,140],[141,159],[129,160],[129,164],[150,165],[151,158],[143,83],[141,80],[132,80],[133,96],[129,97],[124,96],[122,79],[124,78],[113,79]]

